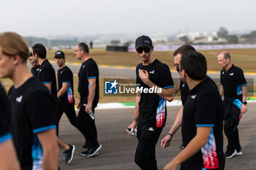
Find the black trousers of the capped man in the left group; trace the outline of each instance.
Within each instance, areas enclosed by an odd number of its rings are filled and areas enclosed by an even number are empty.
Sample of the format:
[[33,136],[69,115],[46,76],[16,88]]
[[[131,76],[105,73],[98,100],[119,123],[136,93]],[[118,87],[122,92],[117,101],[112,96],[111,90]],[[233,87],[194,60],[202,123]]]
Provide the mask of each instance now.
[[69,119],[69,122],[71,123],[71,125],[74,125],[75,128],[77,128],[77,123],[76,123],[76,119],[77,116],[75,114],[75,104],[58,104],[58,109],[57,109],[57,135],[59,134],[59,120],[61,120],[61,116],[63,115],[63,112],[67,115],[67,118]]

